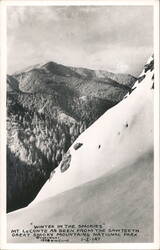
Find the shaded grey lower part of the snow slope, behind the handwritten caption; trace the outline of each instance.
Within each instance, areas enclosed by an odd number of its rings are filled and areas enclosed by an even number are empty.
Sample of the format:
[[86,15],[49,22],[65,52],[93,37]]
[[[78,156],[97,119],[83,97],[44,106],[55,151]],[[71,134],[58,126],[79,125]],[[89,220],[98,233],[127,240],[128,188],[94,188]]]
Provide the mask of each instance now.
[[[132,235],[105,236],[90,242],[152,242],[153,241],[153,154],[146,153],[121,170],[104,175],[42,202],[9,213],[8,242],[35,243],[36,225],[101,225],[106,232],[112,228],[138,229]],[[28,237],[12,237],[11,230],[30,232]],[[33,231],[33,233],[32,233]],[[19,232],[20,233],[20,232]],[[39,233],[39,231],[37,232]],[[40,235],[40,234],[39,234]],[[49,239],[47,234],[43,237]],[[56,236],[56,233],[55,233]],[[43,238],[41,237],[41,238]],[[65,235],[59,237],[62,241]],[[80,236],[69,236],[69,242],[81,242]],[[85,237],[84,237],[85,238]],[[56,239],[56,238],[55,238]],[[54,242],[54,236],[53,236]]]

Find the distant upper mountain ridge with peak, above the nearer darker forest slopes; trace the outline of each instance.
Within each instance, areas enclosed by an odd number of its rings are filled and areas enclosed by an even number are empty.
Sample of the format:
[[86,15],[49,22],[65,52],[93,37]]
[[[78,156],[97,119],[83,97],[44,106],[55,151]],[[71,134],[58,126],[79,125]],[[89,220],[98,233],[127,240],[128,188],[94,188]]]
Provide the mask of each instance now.
[[90,95],[111,101],[119,101],[136,81],[131,75],[67,67],[55,62],[32,66],[8,78],[8,91],[17,88],[25,93],[55,94],[63,88],[78,97]]

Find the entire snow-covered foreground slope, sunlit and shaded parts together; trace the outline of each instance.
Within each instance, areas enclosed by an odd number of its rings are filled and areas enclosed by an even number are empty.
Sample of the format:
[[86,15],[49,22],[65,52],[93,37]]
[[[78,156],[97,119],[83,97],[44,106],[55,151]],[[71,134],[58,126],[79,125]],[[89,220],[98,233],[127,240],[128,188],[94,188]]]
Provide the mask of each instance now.
[[[57,224],[139,229],[136,237],[106,235],[98,242],[153,241],[152,62],[133,91],[77,138],[69,168],[61,172],[60,164],[28,207],[8,214],[8,242],[42,242],[33,234],[12,237],[11,230]],[[78,236],[69,242],[83,243]]]

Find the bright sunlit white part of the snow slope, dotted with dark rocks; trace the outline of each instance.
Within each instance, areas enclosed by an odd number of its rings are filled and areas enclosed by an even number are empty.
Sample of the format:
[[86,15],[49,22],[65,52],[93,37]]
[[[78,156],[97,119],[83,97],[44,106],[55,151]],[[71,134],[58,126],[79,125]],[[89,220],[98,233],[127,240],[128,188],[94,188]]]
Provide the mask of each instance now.
[[153,74],[151,57],[133,92],[77,138],[31,205],[129,167],[153,152]]

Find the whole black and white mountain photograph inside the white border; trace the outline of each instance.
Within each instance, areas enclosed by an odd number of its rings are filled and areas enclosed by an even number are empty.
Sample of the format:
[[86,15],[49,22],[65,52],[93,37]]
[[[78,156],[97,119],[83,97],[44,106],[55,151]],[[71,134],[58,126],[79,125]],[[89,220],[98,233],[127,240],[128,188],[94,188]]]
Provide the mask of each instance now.
[[7,243],[154,243],[157,1],[51,2],[6,6]]

